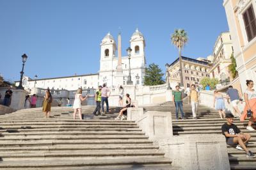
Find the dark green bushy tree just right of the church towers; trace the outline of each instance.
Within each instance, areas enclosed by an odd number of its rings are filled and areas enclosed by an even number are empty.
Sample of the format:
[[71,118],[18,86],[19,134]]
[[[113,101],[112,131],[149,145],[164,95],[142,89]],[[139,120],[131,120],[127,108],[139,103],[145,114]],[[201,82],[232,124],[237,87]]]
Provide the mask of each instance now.
[[146,86],[155,86],[164,84],[163,75],[161,68],[155,63],[148,65],[145,69],[144,84]]

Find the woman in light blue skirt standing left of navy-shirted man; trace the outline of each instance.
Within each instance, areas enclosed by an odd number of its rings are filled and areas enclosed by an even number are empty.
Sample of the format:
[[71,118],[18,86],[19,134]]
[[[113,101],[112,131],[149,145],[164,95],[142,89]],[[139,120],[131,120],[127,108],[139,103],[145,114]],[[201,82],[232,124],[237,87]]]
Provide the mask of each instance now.
[[217,89],[214,90],[213,107],[218,110],[221,119],[225,118],[225,100],[223,95]]

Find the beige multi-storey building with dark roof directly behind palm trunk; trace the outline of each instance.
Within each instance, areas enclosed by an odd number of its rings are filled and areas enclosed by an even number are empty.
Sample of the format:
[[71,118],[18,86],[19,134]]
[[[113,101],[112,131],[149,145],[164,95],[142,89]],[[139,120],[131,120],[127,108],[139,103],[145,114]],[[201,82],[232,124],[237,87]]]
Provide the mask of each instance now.
[[[199,84],[201,79],[204,77],[210,77],[209,75],[209,61],[203,61],[198,59],[186,58],[182,56],[182,73],[184,87],[187,88],[191,84]],[[179,58],[173,61],[168,67],[169,72],[169,82],[170,83],[180,83],[180,66]]]

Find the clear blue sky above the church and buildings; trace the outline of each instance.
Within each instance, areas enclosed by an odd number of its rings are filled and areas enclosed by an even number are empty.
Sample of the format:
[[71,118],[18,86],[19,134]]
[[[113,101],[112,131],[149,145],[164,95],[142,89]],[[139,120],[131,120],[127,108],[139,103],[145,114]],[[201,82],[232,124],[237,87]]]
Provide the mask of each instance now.
[[228,31],[222,0],[65,1],[0,0],[0,73],[19,80],[21,55],[25,75],[60,77],[99,71],[100,42],[110,31],[117,40],[122,29],[122,54],[138,26],[145,36],[147,64],[177,58],[170,43],[175,28],[188,32],[183,56],[212,54],[216,38]]

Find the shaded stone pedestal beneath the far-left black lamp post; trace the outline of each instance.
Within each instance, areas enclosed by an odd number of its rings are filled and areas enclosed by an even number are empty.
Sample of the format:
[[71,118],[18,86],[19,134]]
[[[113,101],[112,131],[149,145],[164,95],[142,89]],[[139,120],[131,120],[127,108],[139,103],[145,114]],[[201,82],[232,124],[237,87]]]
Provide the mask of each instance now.
[[24,109],[27,91],[24,89],[12,89],[12,102],[10,107],[15,110]]

